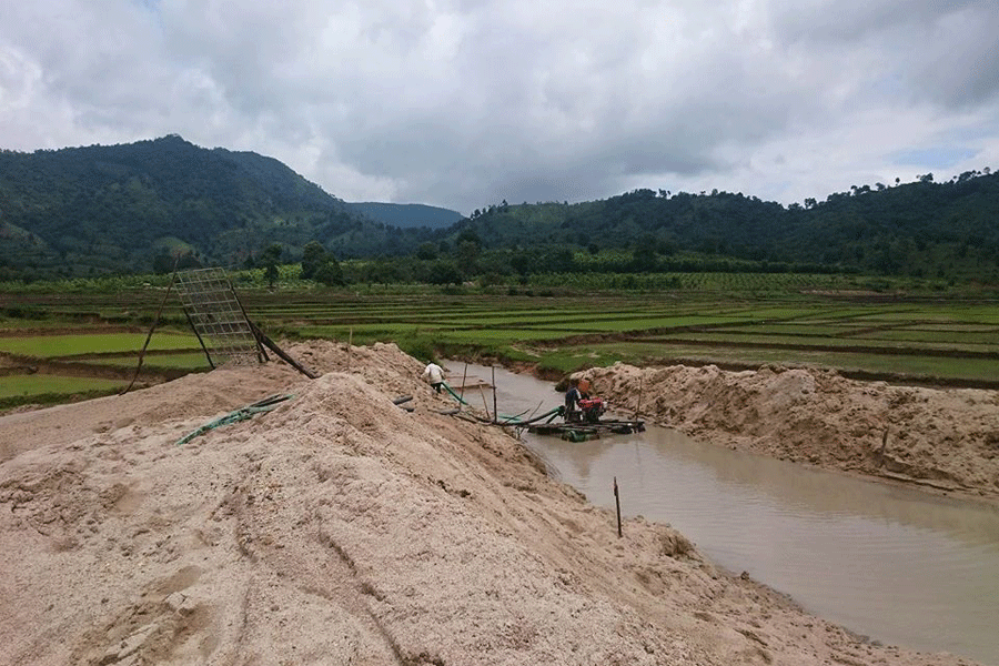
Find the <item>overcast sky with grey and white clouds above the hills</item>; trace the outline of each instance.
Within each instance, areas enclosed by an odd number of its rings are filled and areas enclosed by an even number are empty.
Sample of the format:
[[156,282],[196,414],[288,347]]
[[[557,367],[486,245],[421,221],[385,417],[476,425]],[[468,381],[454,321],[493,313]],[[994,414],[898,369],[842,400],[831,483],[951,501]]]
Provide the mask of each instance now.
[[999,169],[996,0],[0,0],[0,148],[168,133],[347,201],[790,203]]

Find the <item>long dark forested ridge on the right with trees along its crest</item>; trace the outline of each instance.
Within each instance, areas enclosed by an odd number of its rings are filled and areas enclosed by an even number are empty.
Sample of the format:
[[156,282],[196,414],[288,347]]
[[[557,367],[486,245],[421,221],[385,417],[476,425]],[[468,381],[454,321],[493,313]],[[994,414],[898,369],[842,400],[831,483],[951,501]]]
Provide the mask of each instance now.
[[551,248],[625,250],[633,253],[628,266],[643,270],[751,262],[757,270],[807,264],[996,283],[999,173],[966,172],[944,183],[926,174],[787,208],[740,193],[664,190],[576,204],[503,202],[474,211],[452,236],[535,255]]

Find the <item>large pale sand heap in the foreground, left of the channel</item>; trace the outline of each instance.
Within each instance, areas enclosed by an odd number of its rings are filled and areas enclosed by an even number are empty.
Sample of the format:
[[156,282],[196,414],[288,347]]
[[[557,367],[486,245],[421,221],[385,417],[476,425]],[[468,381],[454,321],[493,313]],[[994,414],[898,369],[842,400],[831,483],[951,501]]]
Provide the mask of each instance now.
[[325,374],[0,417],[0,665],[967,663],[865,643],[668,526],[618,539],[394,345],[290,351]]

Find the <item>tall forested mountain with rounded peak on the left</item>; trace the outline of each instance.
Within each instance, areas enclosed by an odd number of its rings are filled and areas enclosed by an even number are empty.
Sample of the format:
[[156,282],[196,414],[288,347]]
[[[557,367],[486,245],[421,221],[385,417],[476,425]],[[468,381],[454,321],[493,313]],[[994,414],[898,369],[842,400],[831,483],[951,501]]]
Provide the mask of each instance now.
[[189,254],[233,265],[311,240],[340,256],[400,253],[401,231],[279,162],[176,135],[121,145],[0,151],[0,278],[149,271]]

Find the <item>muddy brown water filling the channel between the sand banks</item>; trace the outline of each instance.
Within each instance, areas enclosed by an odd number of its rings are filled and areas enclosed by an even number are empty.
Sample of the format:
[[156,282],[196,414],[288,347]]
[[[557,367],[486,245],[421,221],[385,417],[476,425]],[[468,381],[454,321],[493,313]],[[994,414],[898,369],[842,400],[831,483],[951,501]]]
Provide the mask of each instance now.
[[[464,364],[452,363],[461,374]],[[473,369],[483,380],[490,369]],[[471,371],[470,371],[471,372]],[[500,412],[561,403],[496,370]],[[492,406],[492,405],[491,405]],[[528,412],[529,413],[529,412]],[[717,564],[882,643],[999,666],[999,509],[696,442],[667,428],[583,443],[524,435],[594,504],[669,523]]]

